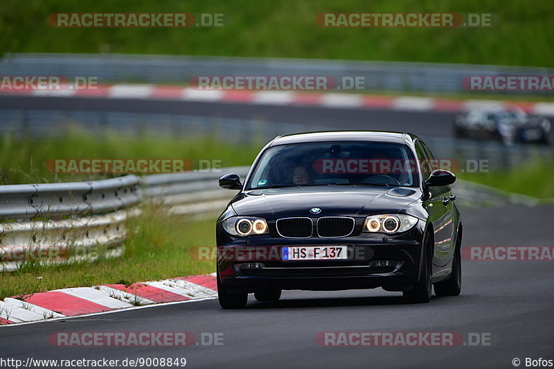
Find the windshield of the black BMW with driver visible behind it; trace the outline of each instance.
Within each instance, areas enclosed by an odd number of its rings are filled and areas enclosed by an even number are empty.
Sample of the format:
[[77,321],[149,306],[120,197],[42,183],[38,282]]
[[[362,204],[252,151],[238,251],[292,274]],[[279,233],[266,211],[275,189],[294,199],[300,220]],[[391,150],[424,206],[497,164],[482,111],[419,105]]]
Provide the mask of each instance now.
[[258,161],[247,189],[287,186],[418,186],[406,145],[325,142],[279,145]]

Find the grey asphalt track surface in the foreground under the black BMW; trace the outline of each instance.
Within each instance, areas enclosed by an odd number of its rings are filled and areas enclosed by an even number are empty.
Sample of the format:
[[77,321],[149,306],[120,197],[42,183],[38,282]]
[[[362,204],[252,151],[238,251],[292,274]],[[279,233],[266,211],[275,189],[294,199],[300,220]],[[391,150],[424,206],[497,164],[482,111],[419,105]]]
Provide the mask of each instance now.
[[[554,206],[463,208],[464,246],[551,246]],[[217,300],[0,328],[2,358],[185,357],[187,368],[514,368],[554,359],[553,264],[463,261],[461,296],[410,305],[399,293],[285,291],[246,309]],[[52,332],[222,332],[223,345],[187,348],[53,347]],[[467,332],[491,345],[454,348],[325,348],[319,332]]]

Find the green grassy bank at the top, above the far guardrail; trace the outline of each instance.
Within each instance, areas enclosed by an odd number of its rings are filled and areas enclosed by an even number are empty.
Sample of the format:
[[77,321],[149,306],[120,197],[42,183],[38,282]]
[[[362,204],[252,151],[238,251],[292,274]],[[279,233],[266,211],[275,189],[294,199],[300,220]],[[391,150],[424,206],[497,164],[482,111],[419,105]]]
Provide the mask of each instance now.
[[[223,12],[222,28],[53,28],[53,12]],[[320,28],[319,12],[487,12],[492,28]],[[0,53],[139,53],[554,66],[551,1],[7,0]]]

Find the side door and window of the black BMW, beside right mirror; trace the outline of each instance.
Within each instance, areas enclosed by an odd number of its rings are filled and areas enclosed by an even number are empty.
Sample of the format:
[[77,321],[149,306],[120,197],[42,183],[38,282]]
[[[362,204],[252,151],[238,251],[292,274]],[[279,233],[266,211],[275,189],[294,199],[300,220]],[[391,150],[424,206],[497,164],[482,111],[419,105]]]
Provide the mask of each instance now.
[[[422,163],[421,170],[423,179],[427,179],[429,174],[435,169],[440,169],[436,166],[436,161],[422,141],[415,142],[415,151],[418,154],[418,159]],[[434,276],[441,276],[445,267],[454,255],[454,246],[456,245],[454,238],[454,217],[451,197],[452,190],[450,186],[433,186],[427,188],[429,191],[429,199],[427,199],[427,212],[431,216],[433,223],[435,240],[434,240]]]

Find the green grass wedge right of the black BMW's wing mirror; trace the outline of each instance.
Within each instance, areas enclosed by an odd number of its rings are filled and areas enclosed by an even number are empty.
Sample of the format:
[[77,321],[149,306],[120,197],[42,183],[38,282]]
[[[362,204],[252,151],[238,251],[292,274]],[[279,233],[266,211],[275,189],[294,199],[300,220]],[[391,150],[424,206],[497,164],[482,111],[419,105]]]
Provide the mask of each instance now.
[[458,177],[506,192],[538,199],[554,199],[554,161],[529,162],[513,170],[488,174],[460,173]]

